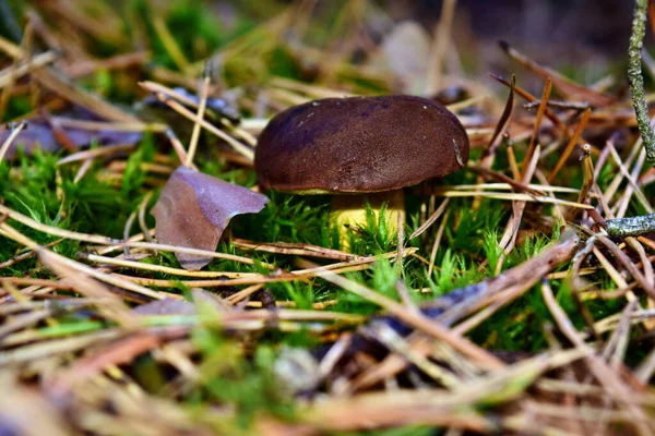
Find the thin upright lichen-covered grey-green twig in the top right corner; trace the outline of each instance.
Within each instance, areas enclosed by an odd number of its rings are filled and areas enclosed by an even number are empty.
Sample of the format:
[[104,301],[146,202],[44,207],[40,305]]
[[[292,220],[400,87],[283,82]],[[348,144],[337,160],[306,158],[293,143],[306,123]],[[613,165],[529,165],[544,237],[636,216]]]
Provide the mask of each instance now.
[[636,114],[636,123],[642,135],[646,157],[651,166],[655,167],[655,134],[651,129],[648,107],[644,95],[644,78],[641,69],[641,50],[646,32],[646,11],[648,0],[635,0],[634,17],[632,20],[632,35],[628,47],[628,82],[632,92],[632,102]]

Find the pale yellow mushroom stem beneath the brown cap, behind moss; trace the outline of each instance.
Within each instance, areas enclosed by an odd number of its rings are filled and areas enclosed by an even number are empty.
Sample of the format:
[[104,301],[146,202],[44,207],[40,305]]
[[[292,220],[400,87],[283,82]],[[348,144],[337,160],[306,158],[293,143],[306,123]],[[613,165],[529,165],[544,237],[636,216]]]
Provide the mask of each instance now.
[[401,222],[405,222],[405,195],[403,190],[371,193],[366,195],[333,195],[331,204],[330,222],[338,228],[342,250],[350,251],[348,227],[366,227],[366,203],[369,203],[376,220],[380,222],[380,209],[386,204],[385,221],[389,235],[398,231],[398,215]]

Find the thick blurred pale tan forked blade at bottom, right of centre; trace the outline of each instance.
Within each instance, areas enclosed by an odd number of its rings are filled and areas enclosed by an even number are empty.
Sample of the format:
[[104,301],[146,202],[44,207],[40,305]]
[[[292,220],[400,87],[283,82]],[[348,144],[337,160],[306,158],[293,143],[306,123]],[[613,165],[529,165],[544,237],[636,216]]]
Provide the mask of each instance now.
[[[573,350],[541,355],[504,367],[489,376],[458,384],[454,391],[444,389],[398,390],[333,398],[305,410],[302,420],[322,431],[357,431],[389,425],[422,424],[451,426],[481,433],[502,432],[504,421],[487,421],[473,411],[478,403],[493,403],[515,397],[539,374],[586,355]],[[516,429],[527,431],[527,425]],[[544,433],[549,434],[549,433]]]

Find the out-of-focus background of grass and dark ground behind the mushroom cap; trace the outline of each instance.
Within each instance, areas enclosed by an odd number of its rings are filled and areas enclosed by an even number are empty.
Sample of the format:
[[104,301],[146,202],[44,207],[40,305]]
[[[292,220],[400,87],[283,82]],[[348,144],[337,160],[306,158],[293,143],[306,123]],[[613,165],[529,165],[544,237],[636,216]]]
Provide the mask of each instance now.
[[[131,104],[145,96],[141,80],[194,92],[211,61],[214,95],[255,117],[301,101],[289,92],[307,93],[284,80],[338,95],[442,93],[452,104],[500,95],[507,86],[488,73],[515,73],[539,95],[545,76],[499,40],[624,97],[631,20],[632,3],[612,0],[0,0],[0,35],[32,53],[51,49],[61,72],[102,96]],[[11,99],[2,118],[28,108]]]

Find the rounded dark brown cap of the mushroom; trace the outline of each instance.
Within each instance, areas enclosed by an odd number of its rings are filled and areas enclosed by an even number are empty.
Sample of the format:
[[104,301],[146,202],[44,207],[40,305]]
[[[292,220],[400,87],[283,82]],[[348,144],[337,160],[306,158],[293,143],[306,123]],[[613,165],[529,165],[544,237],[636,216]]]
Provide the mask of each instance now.
[[264,189],[367,193],[412,186],[468,160],[457,118],[421,97],[326,98],[291,107],[259,137],[254,168]]

